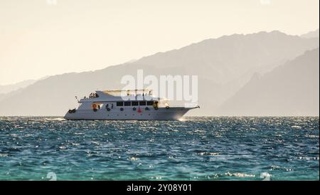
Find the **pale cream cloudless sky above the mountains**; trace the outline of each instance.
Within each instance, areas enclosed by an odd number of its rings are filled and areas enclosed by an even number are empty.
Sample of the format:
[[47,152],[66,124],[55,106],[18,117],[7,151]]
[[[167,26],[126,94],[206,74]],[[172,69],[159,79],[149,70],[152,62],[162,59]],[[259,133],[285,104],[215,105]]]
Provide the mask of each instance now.
[[317,28],[319,0],[0,0],[0,85],[233,33]]

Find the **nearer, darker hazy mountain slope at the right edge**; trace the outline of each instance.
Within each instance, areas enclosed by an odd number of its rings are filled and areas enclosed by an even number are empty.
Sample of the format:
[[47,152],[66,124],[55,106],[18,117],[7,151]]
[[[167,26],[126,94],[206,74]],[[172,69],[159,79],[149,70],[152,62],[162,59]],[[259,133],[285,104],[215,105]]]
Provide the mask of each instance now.
[[222,115],[319,116],[319,48],[255,75],[221,107]]

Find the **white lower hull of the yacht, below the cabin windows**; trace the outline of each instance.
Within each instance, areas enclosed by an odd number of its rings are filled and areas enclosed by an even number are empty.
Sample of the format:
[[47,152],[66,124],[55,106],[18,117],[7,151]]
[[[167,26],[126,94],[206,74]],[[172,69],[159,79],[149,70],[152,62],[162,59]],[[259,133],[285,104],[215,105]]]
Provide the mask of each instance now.
[[[66,120],[180,120],[183,115],[193,108],[188,107],[160,107],[158,110],[151,108],[149,110],[132,109],[106,109],[97,110],[76,110],[74,113],[65,115]],[[138,112],[140,111],[140,112]]]

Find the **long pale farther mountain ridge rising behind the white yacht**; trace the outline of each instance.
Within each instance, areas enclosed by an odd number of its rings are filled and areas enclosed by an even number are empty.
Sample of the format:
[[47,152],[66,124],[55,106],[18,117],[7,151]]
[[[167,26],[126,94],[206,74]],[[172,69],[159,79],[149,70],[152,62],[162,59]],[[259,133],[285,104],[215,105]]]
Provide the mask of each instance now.
[[288,36],[279,31],[232,35],[156,53],[132,63],[102,70],[66,73],[39,80],[16,95],[3,97],[0,115],[64,115],[77,105],[75,95],[94,90],[121,89],[123,75],[198,75],[199,104],[193,115],[219,115],[218,107],[254,73],[266,73],[287,60],[318,48],[319,38]]

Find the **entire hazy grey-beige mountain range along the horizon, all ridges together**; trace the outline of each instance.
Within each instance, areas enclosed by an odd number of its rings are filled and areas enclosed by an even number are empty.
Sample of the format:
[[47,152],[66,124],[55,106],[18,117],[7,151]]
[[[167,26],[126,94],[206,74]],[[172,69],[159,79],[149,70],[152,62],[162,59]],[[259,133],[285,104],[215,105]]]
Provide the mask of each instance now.
[[[38,80],[14,95],[0,96],[0,115],[64,115],[77,105],[75,95],[83,97],[93,90],[122,89],[122,76],[137,75],[137,69],[158,78],[198,75],[201,109],[191,115],[319,115],[316,48],[319,36],[289,36],[279,31],[208,39],[102,70]],[[309,50],[314,51],[306,52]],[[261,80],[257,75],[262,75]],[[294,90],[301,95],[290,99]],[[290,100],[280,107],[282,97]],[[315,100],[318,110],[311,106],[316,105]],[[308,104],[303,103],[306,101]],[[262,107],[270,104],[273,105],[270,109]]]

